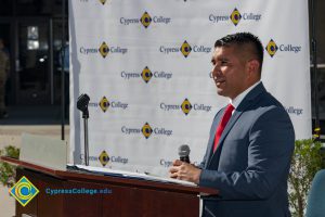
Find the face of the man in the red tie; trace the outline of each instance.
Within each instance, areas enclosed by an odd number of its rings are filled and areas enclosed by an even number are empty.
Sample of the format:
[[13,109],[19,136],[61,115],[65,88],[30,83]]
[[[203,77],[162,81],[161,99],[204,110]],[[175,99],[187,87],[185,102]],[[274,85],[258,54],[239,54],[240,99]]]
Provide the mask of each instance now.
[[218,94],[234,99],[249,87],[245,58],[235,46],[216,48],[211,63]]

